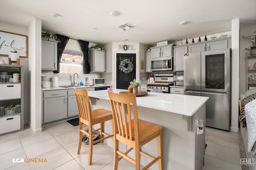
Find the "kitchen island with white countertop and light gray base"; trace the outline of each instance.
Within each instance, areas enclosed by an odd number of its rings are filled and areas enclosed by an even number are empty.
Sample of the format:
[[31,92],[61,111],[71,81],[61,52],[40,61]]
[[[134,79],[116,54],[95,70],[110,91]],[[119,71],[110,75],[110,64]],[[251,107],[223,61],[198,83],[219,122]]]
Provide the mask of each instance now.
[[[120,89],[114,89],[119,93]],[[111,111],[107,90],[88,92],[93,109],[103,108]],[[205,152],[205,133],[196,133],[196,121],[205,121],[205,103],[208,97],[187,96],[148,92],[146,96],[136,97],[139,119],[150,121],[163,128],[163,166],[164,170],[202,170]],[[94,127],[97,128],[97,127]],[[112,133],[111,122],[104,124],[105,131]],[[203,125],[205,129],[205,124]],[[150,129],[148,129],[150,130]],[[113,147],[112,139],[104,141]],[[120,150],[127,147],[120,145]],[[156,139],[144,145],[141,150],[152,156],[157,155]],[[134,152],[130,152],[134,158]],[[141,164],[150,160],[141,156]],[[154,164],[151,170],[157,170]]]

